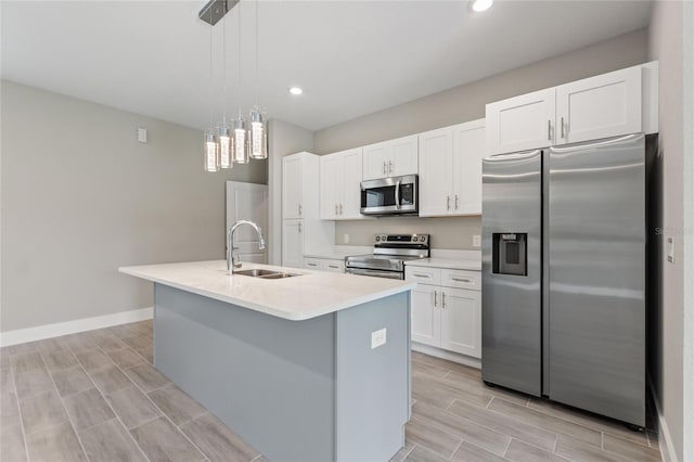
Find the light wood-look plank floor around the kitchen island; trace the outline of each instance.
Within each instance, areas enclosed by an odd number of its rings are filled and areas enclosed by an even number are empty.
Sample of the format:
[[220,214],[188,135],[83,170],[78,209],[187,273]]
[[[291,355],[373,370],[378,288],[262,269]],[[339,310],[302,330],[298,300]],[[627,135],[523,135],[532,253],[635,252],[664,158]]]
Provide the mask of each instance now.
[[[265,461],[152,367],[151,321],[0,352],[3,462]],[[413,418],[394,461],[660,460],[654,432],[489,388],[471,368],[412,358]]]

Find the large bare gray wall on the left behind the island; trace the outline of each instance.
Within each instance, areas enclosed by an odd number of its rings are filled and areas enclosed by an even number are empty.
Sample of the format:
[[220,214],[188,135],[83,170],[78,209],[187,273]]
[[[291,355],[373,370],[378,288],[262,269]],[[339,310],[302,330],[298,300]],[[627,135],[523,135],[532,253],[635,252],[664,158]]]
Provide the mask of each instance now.
[[[152,306],[117,268],[221,259],[224,182],[198,130],[2,81],[2,332]],[[149,130],[140,144],[136,128]]]

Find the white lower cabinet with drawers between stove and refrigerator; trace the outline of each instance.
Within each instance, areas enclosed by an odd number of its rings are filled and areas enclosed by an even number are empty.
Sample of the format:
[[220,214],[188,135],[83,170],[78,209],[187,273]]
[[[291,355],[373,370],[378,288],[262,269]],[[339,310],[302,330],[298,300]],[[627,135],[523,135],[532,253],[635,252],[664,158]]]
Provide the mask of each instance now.
[[412,341],[481,358],[479,272],[407,266],[404,273],[419,282],[411,299]]

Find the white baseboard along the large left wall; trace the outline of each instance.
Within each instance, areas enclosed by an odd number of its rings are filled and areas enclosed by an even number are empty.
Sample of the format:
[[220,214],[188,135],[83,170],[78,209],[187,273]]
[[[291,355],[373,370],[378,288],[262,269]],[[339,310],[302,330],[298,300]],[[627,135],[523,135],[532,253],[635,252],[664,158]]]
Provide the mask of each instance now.
[[59,337],[61,335],[92,331],[94,329],[127,324],[128,322],[144,321],[146,319],[152,319],[153,311],[154,309],[149,307],[114,312],[113,315],[82,318],[74,321],[56,322],[54,324],[44,324],[36,328],[2,332],[0,333],[0,346],[4,347],[26,342],[42,341],[43,338]]

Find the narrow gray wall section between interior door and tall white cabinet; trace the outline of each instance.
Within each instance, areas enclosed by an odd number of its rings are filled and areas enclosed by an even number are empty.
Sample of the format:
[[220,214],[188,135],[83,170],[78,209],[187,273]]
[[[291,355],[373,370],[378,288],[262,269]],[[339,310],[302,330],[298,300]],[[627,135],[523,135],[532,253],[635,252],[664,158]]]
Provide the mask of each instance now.
[[[268,127],[269,214],[268,262],[282,264],[282,157],[300,151],[313,152],[313,132],[284,120],[272,119]],[[318,179],[317,179],[318,181]]]

